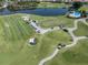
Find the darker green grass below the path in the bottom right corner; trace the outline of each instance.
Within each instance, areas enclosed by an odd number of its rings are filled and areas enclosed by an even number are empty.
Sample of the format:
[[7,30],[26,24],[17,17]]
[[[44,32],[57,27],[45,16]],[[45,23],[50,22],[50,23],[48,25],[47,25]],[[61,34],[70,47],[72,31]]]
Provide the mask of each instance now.
[[46,65],[88,65],[88,40],[81,40],[76,46],[59,53]]

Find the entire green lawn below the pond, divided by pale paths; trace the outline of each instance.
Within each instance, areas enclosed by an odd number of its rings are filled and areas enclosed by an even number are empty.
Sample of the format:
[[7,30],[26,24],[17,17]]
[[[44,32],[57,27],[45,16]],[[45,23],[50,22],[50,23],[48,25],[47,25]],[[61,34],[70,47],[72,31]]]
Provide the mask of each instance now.
[[[40,59],[49,56],[58,43],[70,44],[70,35],[63,31],[53,31],[40,35],[27,24],[21,17],[27,14],[0,15],[0,64],[1,65],[38,65]],[[58,24],[74,26],[74,19],[65,15],[41,17],[30,14],[47,29]],[[79,23],[76,35],[87,35],[87,28]],[[37,44],[28,44],[28,39],[37,37]],[[68,51],[62,51],[46,65],[88,65],[88,41],[81,40]]]

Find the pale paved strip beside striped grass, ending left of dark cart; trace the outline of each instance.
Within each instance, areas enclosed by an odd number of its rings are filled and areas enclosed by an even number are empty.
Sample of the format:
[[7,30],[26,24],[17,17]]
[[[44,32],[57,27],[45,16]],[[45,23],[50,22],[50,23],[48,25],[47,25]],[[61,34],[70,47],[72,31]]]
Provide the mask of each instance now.
[[27,22],[35,29],[35,31],[36,31],[37,33],[39,32],[40,34],[45,34],[45,33],[47,33],[47,32],[51,32],[51,31],[55,31],[55,30],[60,30],[59,26],[55,26],[53,29],[51,29],[51,28],[49,28],[49,29],[43,29],[43,28],[41,28],[40,25],[38,25],[37,22],[35,22],[35,21],[32,21],[32,20],[29,21],[29,18],[28,18],[28,17],[22,17],[22,19],[23,19],[25,21],[27,21]]

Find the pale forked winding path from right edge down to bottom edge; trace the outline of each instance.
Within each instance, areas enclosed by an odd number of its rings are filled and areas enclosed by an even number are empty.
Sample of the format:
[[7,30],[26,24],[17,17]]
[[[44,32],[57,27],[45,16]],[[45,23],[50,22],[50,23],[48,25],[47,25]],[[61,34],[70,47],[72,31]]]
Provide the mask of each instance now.
[[[77,44],[77,42],[78,42],[79,40],[88,39],[87,36],[76,36],[76,35],[74,34],[74,31],[76,31],[76,30],[78,29],[78,22],[82,22],[82,23],[85,23],[86,25],[88,25],[88,23],[86,22],[86,19],[79,19],[79,20],[76,20],[76,21],[75,21],[75,23],[74,23],[75,26],[74,26],[74,28],[65,28],[65,29],[68,30],[70,36],[72,37],[72,43],[69,44],[69,45],[66,45],[66,47],[63,47],[63,48],[72,47],[72,46],[75,46],[75,45]],[[58,54],[59,51],[60,51],[60,50],[56,48],[55,52],[53,52],[50,56],[48,56],[48,57],[41,59],[38,65],[45,65],[45,63],[48,62],[48,61],[50,61],[50,59],[52,59],[52,58]]]

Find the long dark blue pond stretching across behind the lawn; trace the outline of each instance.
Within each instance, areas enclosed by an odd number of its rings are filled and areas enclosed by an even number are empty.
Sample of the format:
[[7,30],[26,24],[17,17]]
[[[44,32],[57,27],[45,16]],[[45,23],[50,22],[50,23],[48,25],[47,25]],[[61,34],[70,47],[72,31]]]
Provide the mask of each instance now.
[[66,14],[68,9],[59,8],[59,9],[33,9],[33,10],[18,10],[10,11],[9,9],[0,9],[0,15],[13,14],[13,13],[28,13],[28,14],[37,14],[37,15],[61,15]]

